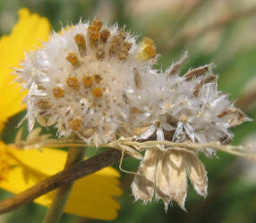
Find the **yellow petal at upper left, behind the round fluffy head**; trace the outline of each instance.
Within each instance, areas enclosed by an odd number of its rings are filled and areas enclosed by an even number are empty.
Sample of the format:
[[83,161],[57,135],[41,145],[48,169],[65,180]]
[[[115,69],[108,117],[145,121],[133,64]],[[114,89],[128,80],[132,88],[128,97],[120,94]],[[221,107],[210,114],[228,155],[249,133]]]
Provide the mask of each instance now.
[[46,18],[38,14],[30,14],[28,9],[19,11],[19,21],[14,26],[12,34],[0,39],[0,122],[25,108],[21,101],[26,92],[21,93],[21,87],[13,83],[13,67],[18,67],[24,58],[24,52],[36,49],[42,41],[46,41],[50,25]]

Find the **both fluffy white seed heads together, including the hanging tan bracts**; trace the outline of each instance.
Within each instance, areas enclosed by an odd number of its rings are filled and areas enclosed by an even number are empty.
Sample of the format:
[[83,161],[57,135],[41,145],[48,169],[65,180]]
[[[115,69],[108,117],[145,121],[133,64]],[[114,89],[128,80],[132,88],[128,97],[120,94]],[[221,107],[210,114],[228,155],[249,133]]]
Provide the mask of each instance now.
[[[97,19],[54,33],[26,54],[17,70],[17,81],[29,90],[29,129],[37,120],[55,126],[58,136],[74,134],[96,146],[116,136],[229,143],[228,129],[248,118],[218,90],[213,65],[181,75],[187,53],[165,71],[152,68],[157,58],[152,39],[137,44],[129,32]],[[187,176],[199,194],[207,194],[207,174],[197,154],[160,145],[146,151],[132,193],[143,201],[155,194],[166,206],[174,200],[184,208]]]

